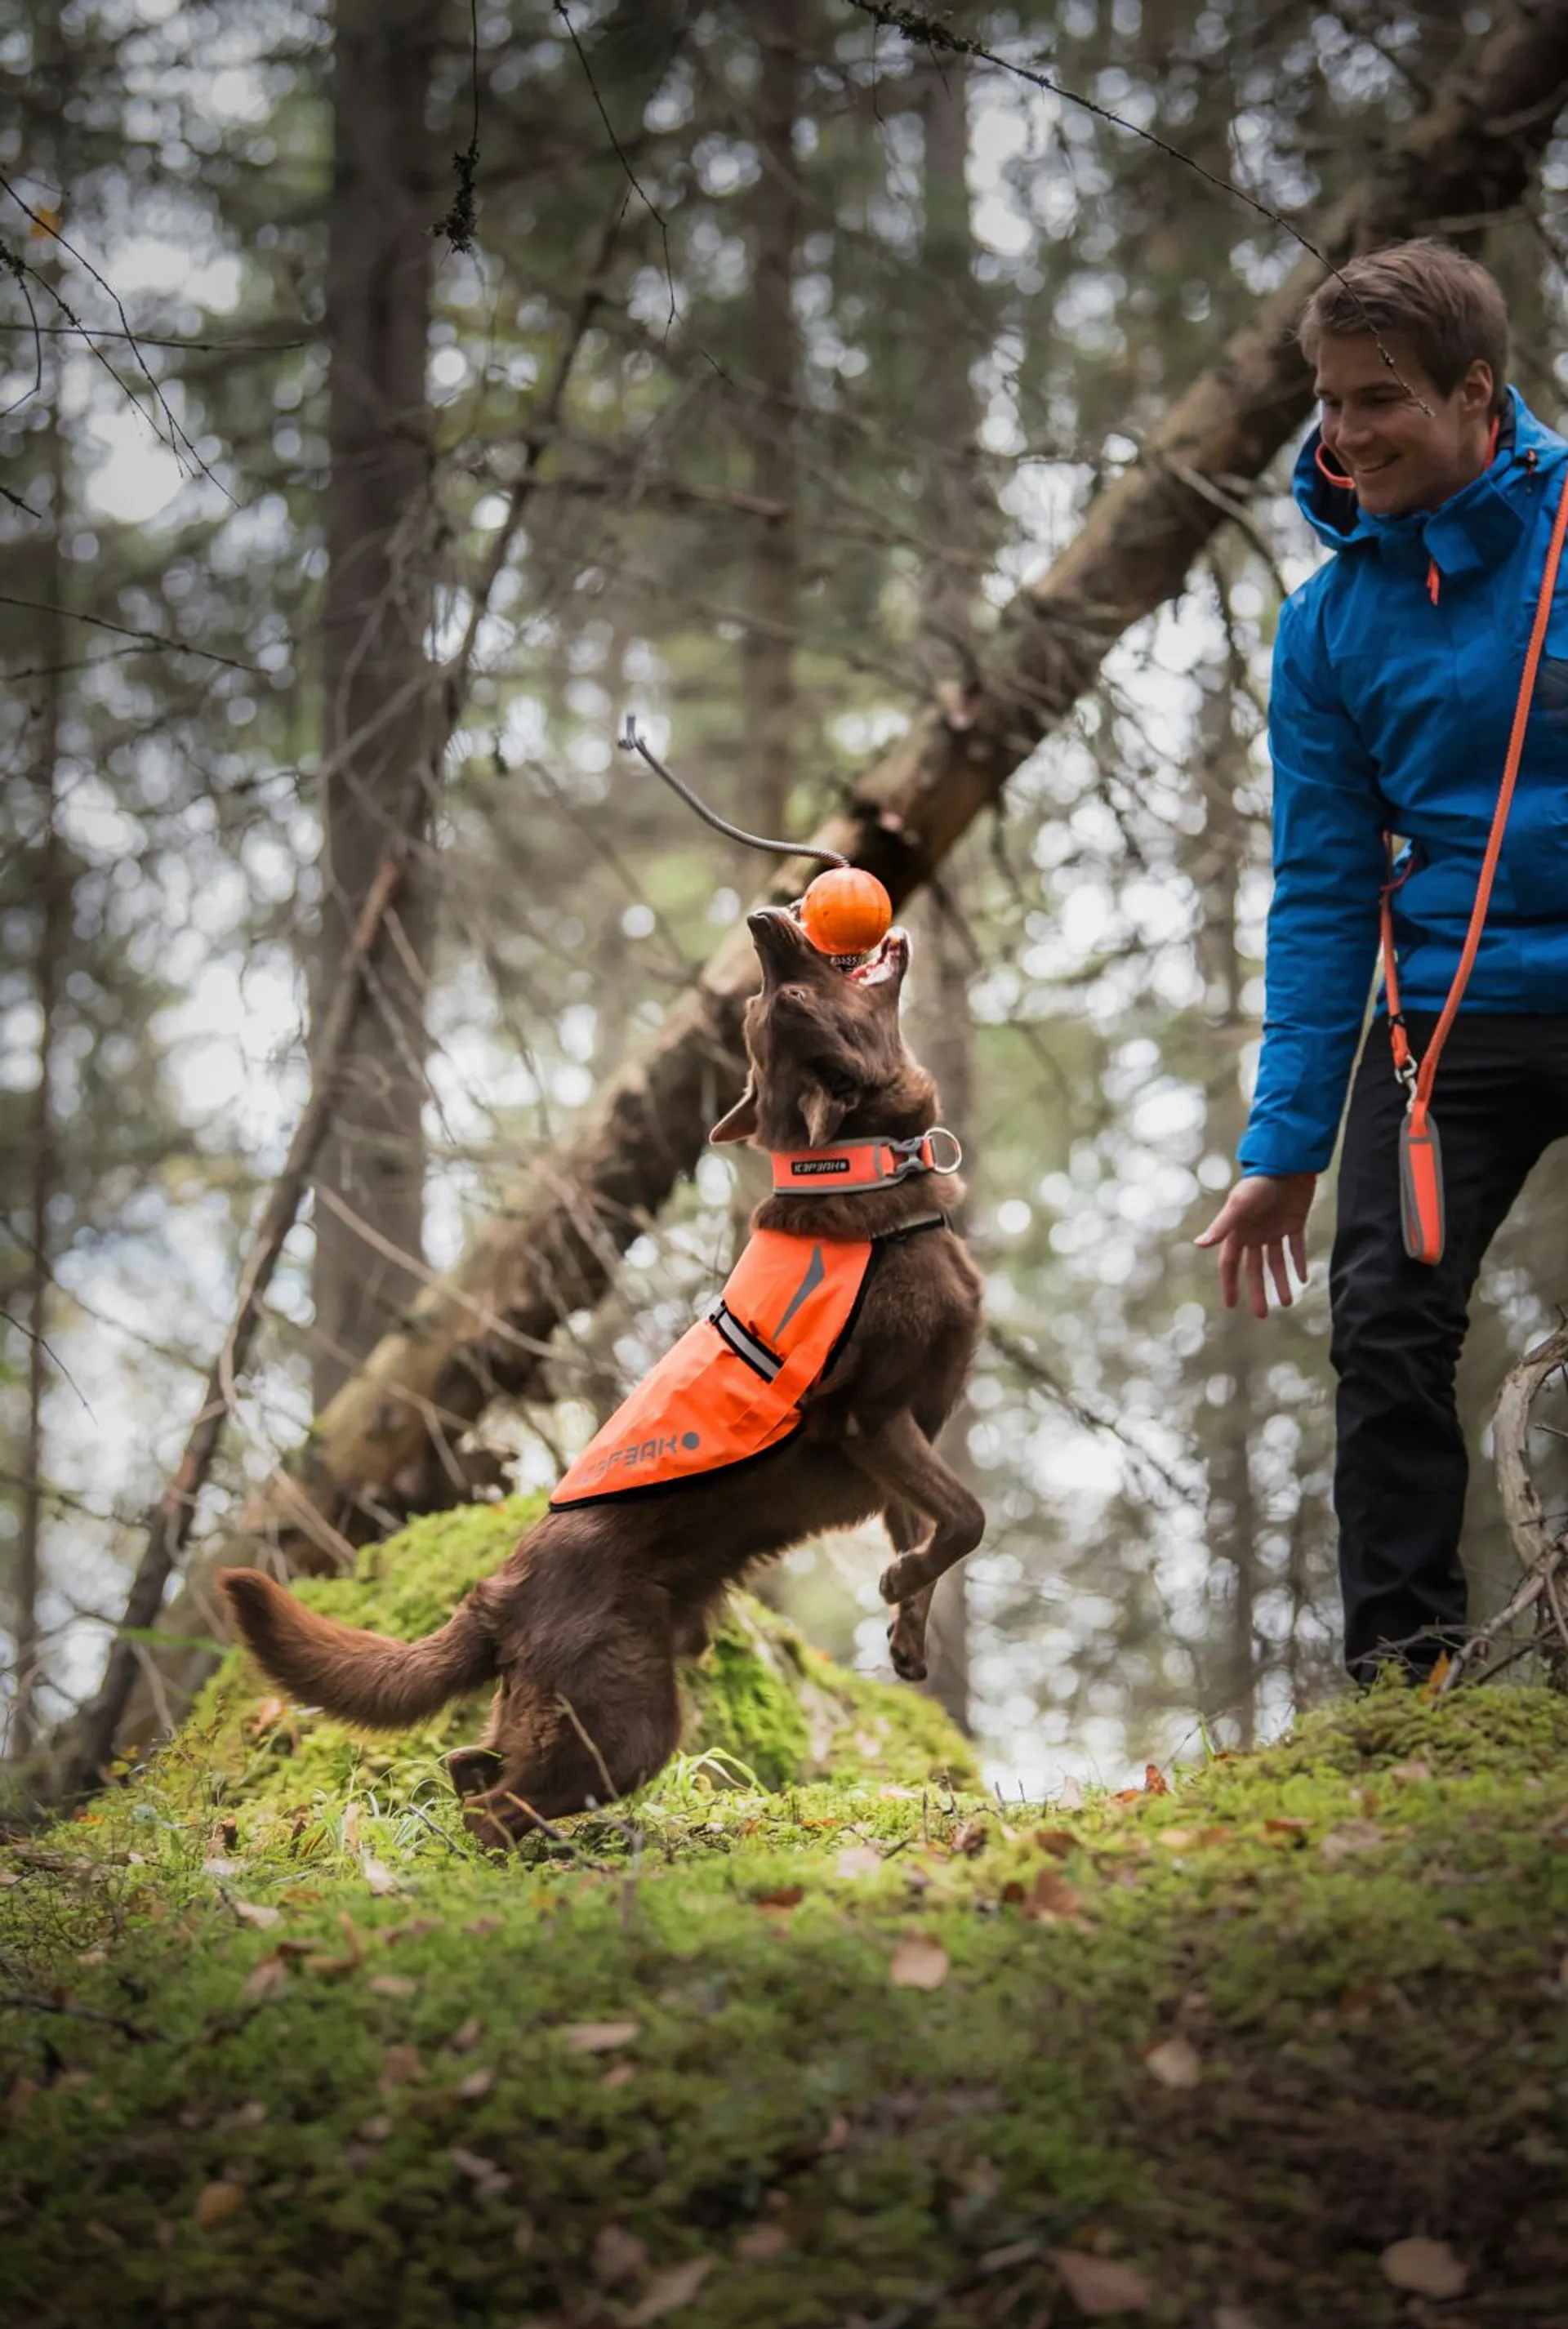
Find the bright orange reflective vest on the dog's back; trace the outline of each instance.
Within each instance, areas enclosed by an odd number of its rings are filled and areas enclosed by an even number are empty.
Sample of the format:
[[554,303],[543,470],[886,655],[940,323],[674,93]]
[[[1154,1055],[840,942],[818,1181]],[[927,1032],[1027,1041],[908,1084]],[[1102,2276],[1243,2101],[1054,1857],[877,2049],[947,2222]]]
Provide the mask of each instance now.
[[755,1230],[718,1304],[594,1432],[550,1509],[676,1488],[794,1437],[801,1397],[855,1323],[876,1244]]

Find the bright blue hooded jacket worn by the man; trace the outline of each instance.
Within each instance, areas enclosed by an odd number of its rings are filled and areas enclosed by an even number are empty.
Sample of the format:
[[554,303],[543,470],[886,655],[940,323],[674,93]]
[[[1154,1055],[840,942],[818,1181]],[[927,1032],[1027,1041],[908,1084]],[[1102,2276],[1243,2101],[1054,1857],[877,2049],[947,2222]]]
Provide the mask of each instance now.
[[[1377,962],[1384,831],[1410,845],[1400,1004],[1447,1001],[1568,461],[1514,389],[1491,466],[1438,510],[1363,515],[1316,447],[1314,429],[1295,501],[1335,557],[1291,592],[1274,640],[1274,901],[1244,1171],[1328,1164]],[[1568,1011],[1568,547],[1463,1008]]]

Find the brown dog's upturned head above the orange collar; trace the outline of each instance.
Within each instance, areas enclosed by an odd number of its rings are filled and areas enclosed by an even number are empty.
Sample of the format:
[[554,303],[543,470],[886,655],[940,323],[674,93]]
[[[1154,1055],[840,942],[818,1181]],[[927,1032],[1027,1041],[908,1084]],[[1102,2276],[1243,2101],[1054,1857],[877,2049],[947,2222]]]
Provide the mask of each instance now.
[[750,1078],[708,1137],[785,1151],[925,1132],[937,1090],[899,1029],[906,934],[890,929],[841,971],[785,906],[760,906],[746,927],[762,962],[762,994],[746,1006]]

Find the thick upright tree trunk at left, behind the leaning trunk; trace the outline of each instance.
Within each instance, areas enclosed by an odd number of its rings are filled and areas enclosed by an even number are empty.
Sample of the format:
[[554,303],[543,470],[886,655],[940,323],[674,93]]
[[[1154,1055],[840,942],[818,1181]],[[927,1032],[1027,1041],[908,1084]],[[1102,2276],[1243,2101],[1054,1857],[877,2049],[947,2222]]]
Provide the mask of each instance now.
[[[324,608],[319,1022],[403,804],[431,783],[433,692],[426,340],[433,140],[426,126],[438,0],[338,0],[333,186],[326,226],[331,338]],[[382,1246],[424,1248],[424,983],[433,878],[417,850],[370,964],[370,1008],[317,1169],[312,1390],[324,1407],[419,1279]]]

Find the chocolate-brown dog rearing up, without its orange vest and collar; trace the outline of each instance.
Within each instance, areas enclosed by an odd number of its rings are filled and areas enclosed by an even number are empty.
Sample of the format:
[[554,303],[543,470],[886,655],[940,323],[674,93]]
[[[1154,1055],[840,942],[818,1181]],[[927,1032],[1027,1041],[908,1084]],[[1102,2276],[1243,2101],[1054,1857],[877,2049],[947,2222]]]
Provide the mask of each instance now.
[[[937,1092],[899,1032],[904,934],[846,976],[781,908],[753,913],[750,932],[764,976],[746,1006],[750,1083],[713,1139],[783,1153],[927,1132]],[[485,1742],[450,1758],[464,1821],[487,1842],[652,1777],[680,1730],[676,1658],[704,1647],[732,1579],[815,1530],[883,1514],[892,1663],[918,1682],[932,1586],[986,1525],[932,1446],[969,1372],[981,1279],[946,1218],[918,1225],[960,1195],[953,1178],[920,1174],[757,1206],[753,1230],[878,1239],[853,1325],[785,1444],[666,1493],[548,1512],[424,1642],[359,1633],[256,1570],[226,1570],[252,1654],[296,1698],[380,1728],[496,1679]]]

